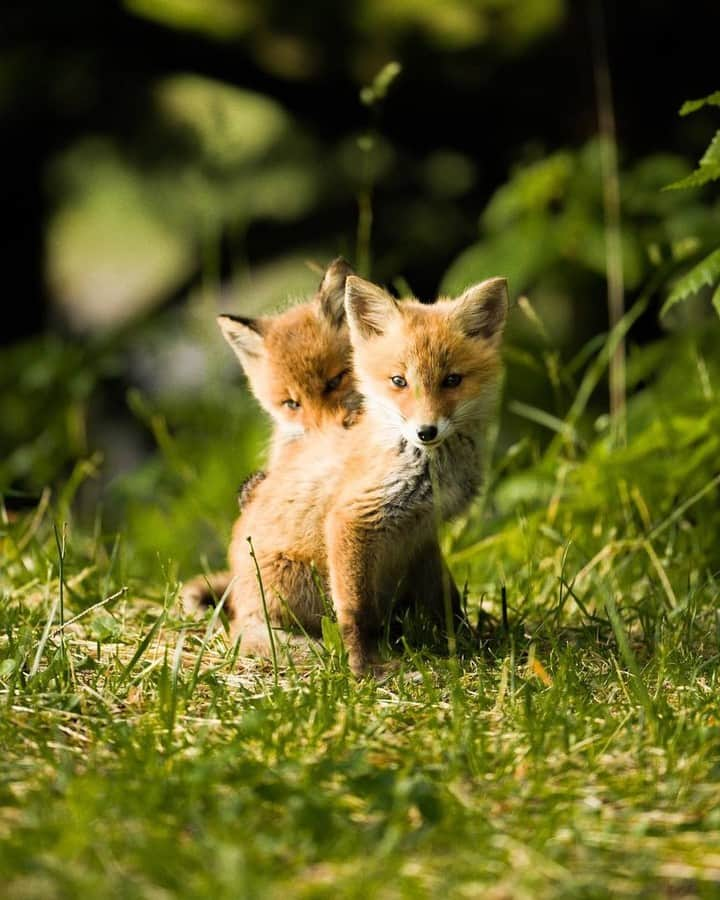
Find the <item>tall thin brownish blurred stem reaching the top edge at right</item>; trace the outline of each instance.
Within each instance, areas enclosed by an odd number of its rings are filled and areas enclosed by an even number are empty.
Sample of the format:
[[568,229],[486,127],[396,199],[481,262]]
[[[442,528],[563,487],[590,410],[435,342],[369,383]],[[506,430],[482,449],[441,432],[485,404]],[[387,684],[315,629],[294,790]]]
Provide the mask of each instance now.
[[[605,18],[602,0],[594,0],[590,7],[593,44],[595,97],[600,129],[600,159],[603,181],[603,210],[605,214],[605,254],[607,272],[607,303],[610,330],[613,331],[625,312],[623,256],[621,231],[620,176],[618,172],[617,133],[613,109],[612,81],[608,64]],[[610,420],[615,440],[624,444],[627,437],[625,421],[625,340],[615,348],[610,360]]]

